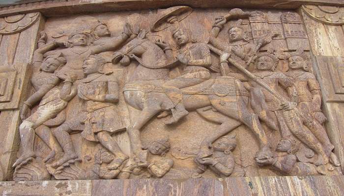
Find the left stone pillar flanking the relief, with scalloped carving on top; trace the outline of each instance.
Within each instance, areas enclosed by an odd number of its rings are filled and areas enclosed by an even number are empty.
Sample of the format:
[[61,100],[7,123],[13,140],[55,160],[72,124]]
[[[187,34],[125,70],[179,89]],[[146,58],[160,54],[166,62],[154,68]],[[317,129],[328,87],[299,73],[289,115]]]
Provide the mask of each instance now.
[[19,147],[19,106],[28,94],[29,63],[42,20],[39,12],[0,18],[1,180],[11,180]]

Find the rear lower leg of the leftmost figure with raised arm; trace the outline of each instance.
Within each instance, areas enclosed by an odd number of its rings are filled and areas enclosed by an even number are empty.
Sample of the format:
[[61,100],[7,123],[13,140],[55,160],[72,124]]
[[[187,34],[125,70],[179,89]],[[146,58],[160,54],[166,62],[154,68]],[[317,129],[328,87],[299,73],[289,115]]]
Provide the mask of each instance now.
[[51,132],[51,129],[46,125],[40,125],[35,128],[35,133],[43,142],[51,149],[49,155],[44,159],[44,162],[47,162],[49,159],[53,158],[56,153],[62,152],[62,148],[57,142],[54,134]]

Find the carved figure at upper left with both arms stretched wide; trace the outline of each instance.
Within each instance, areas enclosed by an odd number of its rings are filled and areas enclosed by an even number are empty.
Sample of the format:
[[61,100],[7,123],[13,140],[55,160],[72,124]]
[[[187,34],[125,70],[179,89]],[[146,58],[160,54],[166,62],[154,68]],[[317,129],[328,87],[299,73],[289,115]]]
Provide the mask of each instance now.
[[[106,32],[106,30],[104,30]],[[99,31],[92,31],[93,34],[99,36]],[[96,33],[98,32],[98,33]],[[106,34],[106,33],[105,33]],[[61,52],[67,59],[67,64],[61,70],[62,73],[74,73],[78,75],[78,79],[83,78],[83,60],[90,54],[98,54],[105,51],[117,49],[121,44],[129,38],[133,38],[137,33],[133,32],[129,24],[125,24],[123,32],[120,36],[108,39],[100,45],[93,45],[93,37],[83,29],[75,29],[69,36],[68,42],[65,43],[66,49],[51,51],[52,53]],[[104,36],[104,35],[103,35]],[[51,53],[49,53],[51,54]]]

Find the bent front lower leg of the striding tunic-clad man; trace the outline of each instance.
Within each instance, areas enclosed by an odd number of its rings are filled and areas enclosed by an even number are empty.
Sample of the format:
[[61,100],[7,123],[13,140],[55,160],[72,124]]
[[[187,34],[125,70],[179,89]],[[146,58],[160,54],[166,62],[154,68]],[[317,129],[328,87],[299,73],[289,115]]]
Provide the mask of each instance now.
[[61,124],[53,131],[58,143],[63,148],[64,155],[61,159],[53,163],[52,167],[58,167],[71,159],[78,158],[78,155],[74,151],[72,139],[69,135],[70,131],[71,129],[67,123]]

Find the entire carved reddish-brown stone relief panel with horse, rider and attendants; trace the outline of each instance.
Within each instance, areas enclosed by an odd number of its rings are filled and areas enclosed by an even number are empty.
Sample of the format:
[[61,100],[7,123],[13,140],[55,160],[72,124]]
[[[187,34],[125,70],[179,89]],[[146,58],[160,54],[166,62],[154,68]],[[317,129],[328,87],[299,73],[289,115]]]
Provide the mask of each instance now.
[[48,18],[13,178],[341,174],[309,56],[291,11]]

